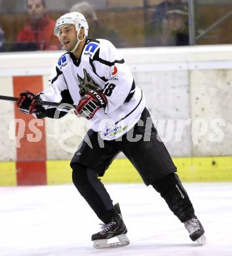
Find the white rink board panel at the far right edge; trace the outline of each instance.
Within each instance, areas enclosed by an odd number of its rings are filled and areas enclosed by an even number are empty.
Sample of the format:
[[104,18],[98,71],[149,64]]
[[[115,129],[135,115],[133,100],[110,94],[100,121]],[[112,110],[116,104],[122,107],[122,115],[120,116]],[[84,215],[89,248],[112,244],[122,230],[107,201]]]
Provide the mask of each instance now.
[[[201,117],[208,124],[207,132],[193,144],[194,156],[232,154],[232,69],[192,70],[190,74],[191,118]],[[223,142],[210,142],[212,125],[220,120]],[[225,123],[225,125],[223,124]],[[217,138],[216,138],[217,139]]]

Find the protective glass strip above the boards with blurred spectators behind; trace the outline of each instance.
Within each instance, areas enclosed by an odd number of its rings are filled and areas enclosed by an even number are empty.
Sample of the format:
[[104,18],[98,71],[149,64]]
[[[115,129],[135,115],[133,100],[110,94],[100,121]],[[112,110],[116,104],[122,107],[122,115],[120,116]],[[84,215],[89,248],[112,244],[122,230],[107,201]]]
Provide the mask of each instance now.
[[70,11],[118,48],[232,43],[232,0],[0,0],[0,51],[60,50],[54,23]]

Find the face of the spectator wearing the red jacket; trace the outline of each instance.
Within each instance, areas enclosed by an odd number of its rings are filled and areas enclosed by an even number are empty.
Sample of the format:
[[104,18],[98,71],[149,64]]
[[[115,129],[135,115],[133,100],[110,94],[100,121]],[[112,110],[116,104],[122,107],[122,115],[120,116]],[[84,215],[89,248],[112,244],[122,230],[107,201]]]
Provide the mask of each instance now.
[[46,8],[41,0],[28,0],[28,14],[31,21],[39,21],[45,16]]

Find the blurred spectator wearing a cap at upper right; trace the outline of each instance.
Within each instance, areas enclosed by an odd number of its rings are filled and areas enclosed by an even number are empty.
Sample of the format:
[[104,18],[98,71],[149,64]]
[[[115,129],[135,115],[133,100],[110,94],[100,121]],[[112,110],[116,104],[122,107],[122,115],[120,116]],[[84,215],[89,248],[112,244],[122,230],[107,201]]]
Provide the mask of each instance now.
[[188,12],[181,8],[180,6],[174,6],[166,12],[167,24],[166,30],[161,35],[161,45],[189,45]]

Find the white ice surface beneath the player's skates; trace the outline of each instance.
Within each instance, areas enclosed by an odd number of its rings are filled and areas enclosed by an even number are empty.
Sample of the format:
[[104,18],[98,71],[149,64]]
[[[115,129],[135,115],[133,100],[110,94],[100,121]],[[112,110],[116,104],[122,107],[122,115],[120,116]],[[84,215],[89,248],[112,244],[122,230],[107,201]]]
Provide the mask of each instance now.
[[231,256],[232,183],[185,183],[207,244],[191,242],[184,225],[152,187],[107,184],[119,202],[130,245],[94,249],[99,230],[90,207],[71,184],[0,188],[1,256]]

